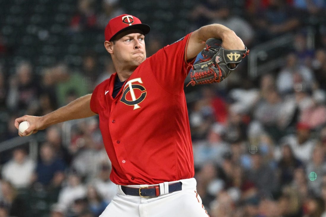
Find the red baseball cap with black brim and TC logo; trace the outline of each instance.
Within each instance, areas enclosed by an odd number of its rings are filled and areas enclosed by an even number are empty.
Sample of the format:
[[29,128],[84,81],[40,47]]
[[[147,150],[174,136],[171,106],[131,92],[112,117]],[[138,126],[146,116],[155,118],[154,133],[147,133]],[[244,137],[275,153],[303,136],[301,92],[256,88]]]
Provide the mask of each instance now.
[[139,29],[144,35],[149,33],[149,25],[141,23],[140,19],[129,14],[122,14],[112,18],[105,27],[104,36],[106,41],[110,41],[114,36],[129,29]]

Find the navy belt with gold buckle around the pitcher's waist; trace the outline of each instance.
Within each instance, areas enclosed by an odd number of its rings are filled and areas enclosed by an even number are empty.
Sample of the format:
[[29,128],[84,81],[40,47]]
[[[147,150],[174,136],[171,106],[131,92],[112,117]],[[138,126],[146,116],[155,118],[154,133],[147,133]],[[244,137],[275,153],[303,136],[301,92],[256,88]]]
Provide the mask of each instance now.
[[[131,188],[126,186],[121,186],[121,190],[126,195],[132,196],[141,196],[141,197],[150,197],[150,196],[159,196],[160,195],[160,186],[150,186],[150,187],[140,187],[140,188]],[[169,184],[169,193],[182,190],[182,182],[176,182]]]

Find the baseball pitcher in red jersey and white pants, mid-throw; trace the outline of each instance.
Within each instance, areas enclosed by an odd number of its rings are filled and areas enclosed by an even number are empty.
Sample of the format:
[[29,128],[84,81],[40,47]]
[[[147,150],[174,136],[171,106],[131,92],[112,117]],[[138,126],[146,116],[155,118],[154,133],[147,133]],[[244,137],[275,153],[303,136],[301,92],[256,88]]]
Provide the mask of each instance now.
[[[116,72],[92,94],[42,117],[25,115],[20,136],[72,119],[99,115],[118,193],[100,217],[207,217],[196,191],[184,82],[220,82],[248,53],[229,28],[211,24],[146,58],[150,27],[132,15],[111,19],[105,49]],[[209,39],[209,40],[208,40]],[[194,63],[201,52],[202,58]]]

